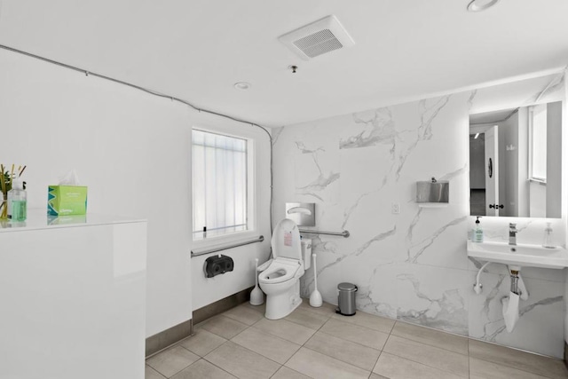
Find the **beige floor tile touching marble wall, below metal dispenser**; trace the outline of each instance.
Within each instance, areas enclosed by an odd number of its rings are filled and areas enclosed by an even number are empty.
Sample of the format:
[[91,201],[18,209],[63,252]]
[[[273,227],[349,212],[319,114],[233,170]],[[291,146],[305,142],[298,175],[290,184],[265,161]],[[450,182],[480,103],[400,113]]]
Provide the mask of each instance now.
[[468,355],[468,338],[398,321],[392,335]]

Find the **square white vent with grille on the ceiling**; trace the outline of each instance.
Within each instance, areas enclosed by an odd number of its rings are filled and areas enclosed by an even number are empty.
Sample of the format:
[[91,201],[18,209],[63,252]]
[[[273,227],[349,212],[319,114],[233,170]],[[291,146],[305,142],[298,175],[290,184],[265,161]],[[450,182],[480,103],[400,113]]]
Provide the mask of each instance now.
[[278,39],[304,60],[355,44],[334,15],[298,28]]

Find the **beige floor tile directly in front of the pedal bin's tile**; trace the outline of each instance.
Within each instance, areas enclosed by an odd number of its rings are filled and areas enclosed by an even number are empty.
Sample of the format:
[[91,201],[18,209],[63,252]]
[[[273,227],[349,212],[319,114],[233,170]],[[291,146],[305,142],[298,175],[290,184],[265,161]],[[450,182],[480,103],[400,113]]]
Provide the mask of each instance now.
[[328,335],[361,343],[376,350],[383,349],[384,343],[389,337],[388,334],[378,330],[359,327],[359,325],[335,319],[328,320],[319,330]]

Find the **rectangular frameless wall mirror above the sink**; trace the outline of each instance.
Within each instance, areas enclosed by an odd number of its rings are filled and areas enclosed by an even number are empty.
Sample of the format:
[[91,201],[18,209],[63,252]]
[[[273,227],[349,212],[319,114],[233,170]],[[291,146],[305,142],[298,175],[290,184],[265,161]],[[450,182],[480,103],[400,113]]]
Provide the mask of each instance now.
[[471,216],[561,217],[562,101],[469,114]]

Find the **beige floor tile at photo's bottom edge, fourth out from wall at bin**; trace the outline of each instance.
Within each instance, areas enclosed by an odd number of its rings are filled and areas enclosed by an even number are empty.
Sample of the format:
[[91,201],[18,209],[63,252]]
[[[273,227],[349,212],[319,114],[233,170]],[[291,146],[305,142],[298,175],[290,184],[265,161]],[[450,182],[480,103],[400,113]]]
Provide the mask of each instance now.
[[370,375],[369,371],[305,347],[296,352],[285,366],[314,379],[367,379]]

